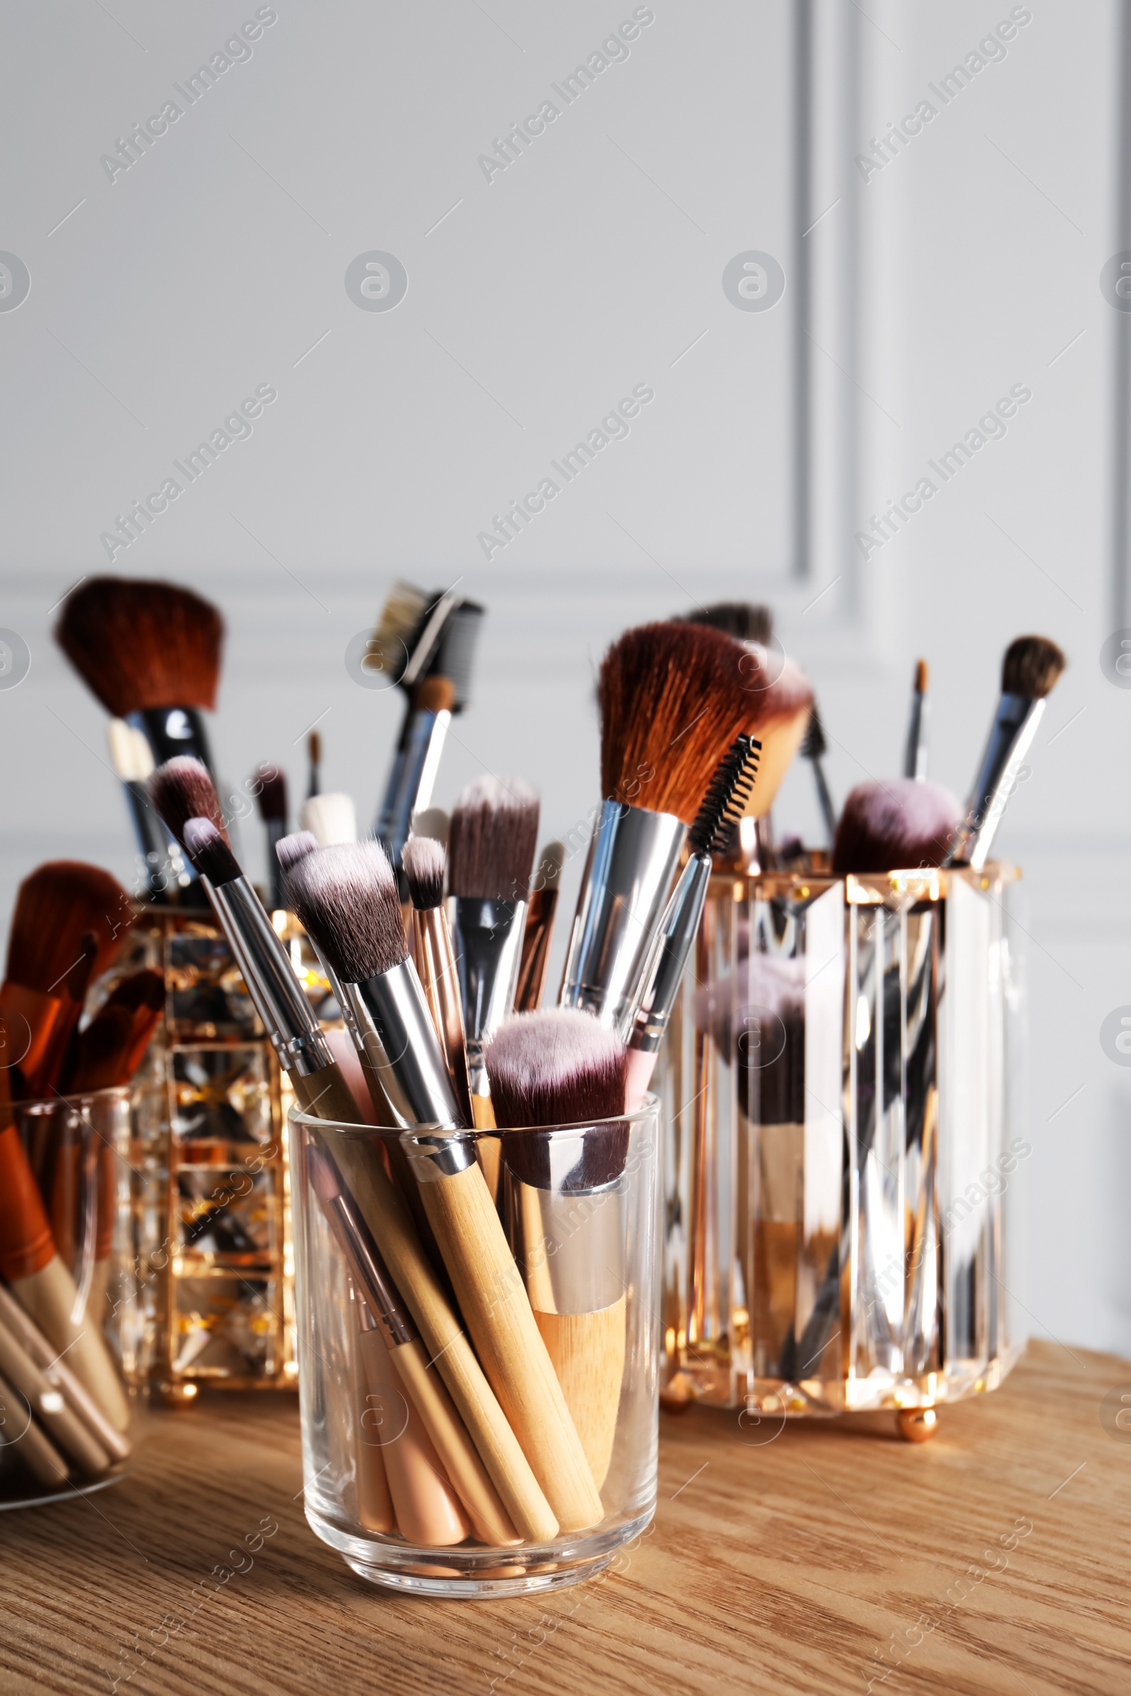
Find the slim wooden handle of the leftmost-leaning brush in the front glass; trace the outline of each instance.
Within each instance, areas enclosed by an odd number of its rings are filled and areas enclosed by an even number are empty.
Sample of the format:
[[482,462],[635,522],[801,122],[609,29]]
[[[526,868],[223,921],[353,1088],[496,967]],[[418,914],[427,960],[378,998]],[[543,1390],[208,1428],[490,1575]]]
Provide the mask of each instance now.
[[[349,1085],[337,1067],[327,1067],[312,1077],[292,1074],[292,1084],[307,1113],[344,1124],[361,1123]],[[393,1284],[409,1304],[429,1358],[439,1367],[515,1531],[529,1543],[551,1542],[558,1535],[558,1520],[538,1486],[515,1433],[507,1425],[475,1350],[421,1248],[409,1209],[397,1196],[382,1160],[359,1138],[349,1136],[334,1140],[332,1155],[373,1231]]]

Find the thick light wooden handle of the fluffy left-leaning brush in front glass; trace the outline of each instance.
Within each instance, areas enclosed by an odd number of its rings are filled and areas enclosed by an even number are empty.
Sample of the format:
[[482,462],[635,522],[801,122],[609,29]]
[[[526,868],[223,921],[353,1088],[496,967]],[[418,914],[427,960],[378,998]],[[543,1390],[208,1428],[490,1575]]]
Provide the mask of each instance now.
[[478,1165],[421,1184],[483,1370],[563,1531],[605,1509]]

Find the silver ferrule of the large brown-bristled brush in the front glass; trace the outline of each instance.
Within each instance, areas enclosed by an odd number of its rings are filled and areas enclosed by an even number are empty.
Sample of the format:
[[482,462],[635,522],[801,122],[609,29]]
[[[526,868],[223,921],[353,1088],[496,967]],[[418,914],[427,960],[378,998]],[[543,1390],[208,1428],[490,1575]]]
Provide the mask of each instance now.
[[561,1006],[585,1007],[626,1040],[687,826],[671,812],[605,801],[590,843],[561,982]]

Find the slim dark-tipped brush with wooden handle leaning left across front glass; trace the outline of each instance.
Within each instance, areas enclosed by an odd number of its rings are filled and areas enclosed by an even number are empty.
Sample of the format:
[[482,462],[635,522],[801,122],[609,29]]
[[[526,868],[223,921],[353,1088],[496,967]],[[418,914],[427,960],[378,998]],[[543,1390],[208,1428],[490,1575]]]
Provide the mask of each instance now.
[[[168,806],[180,812],[176,797],[170,797]],[[188,826],[183,829],[187,833]],[[239,862],[207,819],[197,821],[192,840],[215,916],[244,970],[256,1013],[290,1077],[298,1106],[322,1119],[361,1124],[363,1116],[349,1084],[332,1058],[287,950],[242,877]],[[181,846],[188,846],[185,836]],[[558,1520],[421,1247],[407,1204],[371,1150],[353,1146],[348,1138],[336,1141],[337,1163],[351,1194],[382,1247],[397,1289],[412,1309],[429,1357],[439,1367],[507,1515],[524,1542],[548,1542],[558,1533]]]

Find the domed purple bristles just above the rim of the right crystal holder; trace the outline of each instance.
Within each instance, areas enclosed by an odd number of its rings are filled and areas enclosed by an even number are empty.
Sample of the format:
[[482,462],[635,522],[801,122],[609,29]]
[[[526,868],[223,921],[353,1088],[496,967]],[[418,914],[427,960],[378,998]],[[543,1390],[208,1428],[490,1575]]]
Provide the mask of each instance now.
[[904,872],[941,865],[961,809],[941,784],[900,777],[858,784],[844,802],[833,872]]

